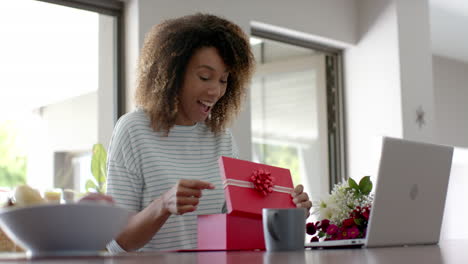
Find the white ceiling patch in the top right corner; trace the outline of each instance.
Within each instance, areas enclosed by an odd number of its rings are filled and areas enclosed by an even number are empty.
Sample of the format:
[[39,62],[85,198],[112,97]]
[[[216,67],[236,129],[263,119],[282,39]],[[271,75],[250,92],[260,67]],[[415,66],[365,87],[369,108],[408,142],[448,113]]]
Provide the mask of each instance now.
[[468,62],[468,1],[429,0],[432,52]]

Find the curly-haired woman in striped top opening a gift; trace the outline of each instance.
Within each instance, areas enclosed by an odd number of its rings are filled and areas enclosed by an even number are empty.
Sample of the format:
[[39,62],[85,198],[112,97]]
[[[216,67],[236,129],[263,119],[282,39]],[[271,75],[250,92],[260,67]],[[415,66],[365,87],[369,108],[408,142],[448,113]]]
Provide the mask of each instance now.
[[[108,194],[137,213],[110,251],[196,248],[196,215],[223,207],[217,160],[237,157],[226,128],[253,66],[247,36],[213,15],[170,19],[147,34],[138,108],[117,122],[108,157]],[[302,190],[293,201],[309,210]]]

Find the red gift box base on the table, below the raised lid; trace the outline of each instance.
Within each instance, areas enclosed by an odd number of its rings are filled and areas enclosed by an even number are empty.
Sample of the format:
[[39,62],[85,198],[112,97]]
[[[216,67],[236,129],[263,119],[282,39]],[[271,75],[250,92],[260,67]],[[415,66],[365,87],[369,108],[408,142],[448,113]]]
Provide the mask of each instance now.
[[263,250],[262,219],[230,214],[200,215],[198,249]]

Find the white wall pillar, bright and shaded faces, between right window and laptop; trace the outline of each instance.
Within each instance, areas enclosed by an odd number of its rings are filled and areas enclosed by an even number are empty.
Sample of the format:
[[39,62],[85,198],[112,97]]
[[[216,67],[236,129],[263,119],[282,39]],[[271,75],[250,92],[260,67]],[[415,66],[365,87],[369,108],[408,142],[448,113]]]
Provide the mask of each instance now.
[[429,11],[427,1],[358,3],[358,42],[345,52],[348,175],[375,180],[383,136],[434,141]]

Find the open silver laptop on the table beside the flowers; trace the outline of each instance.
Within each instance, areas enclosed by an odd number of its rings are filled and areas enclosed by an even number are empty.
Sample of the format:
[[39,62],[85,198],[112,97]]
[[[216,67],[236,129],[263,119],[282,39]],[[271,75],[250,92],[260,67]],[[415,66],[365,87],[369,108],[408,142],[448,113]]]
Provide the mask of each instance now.
[[379,175],[365,239],[306,243],[306,247],[437,244],[453,147],[383,138]]

